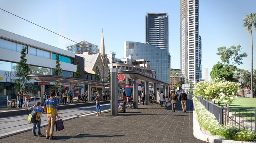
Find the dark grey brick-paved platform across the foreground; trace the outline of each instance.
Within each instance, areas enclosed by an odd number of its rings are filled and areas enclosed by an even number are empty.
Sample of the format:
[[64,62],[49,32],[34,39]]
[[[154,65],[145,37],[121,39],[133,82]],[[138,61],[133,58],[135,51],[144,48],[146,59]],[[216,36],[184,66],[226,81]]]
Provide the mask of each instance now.
[[[67,142],[67,143],[205,143],[193,136],[192,101],[187,101],[187,113],[160,105],[139,105],[139,109],[127,109],[125,113],[101,117],[84,116],[64,121],[65,129],[54,132],[55,140],[32,137],[32,131],[0,139],[1,143]],[[46,127],[41,128],[45,135]]]

